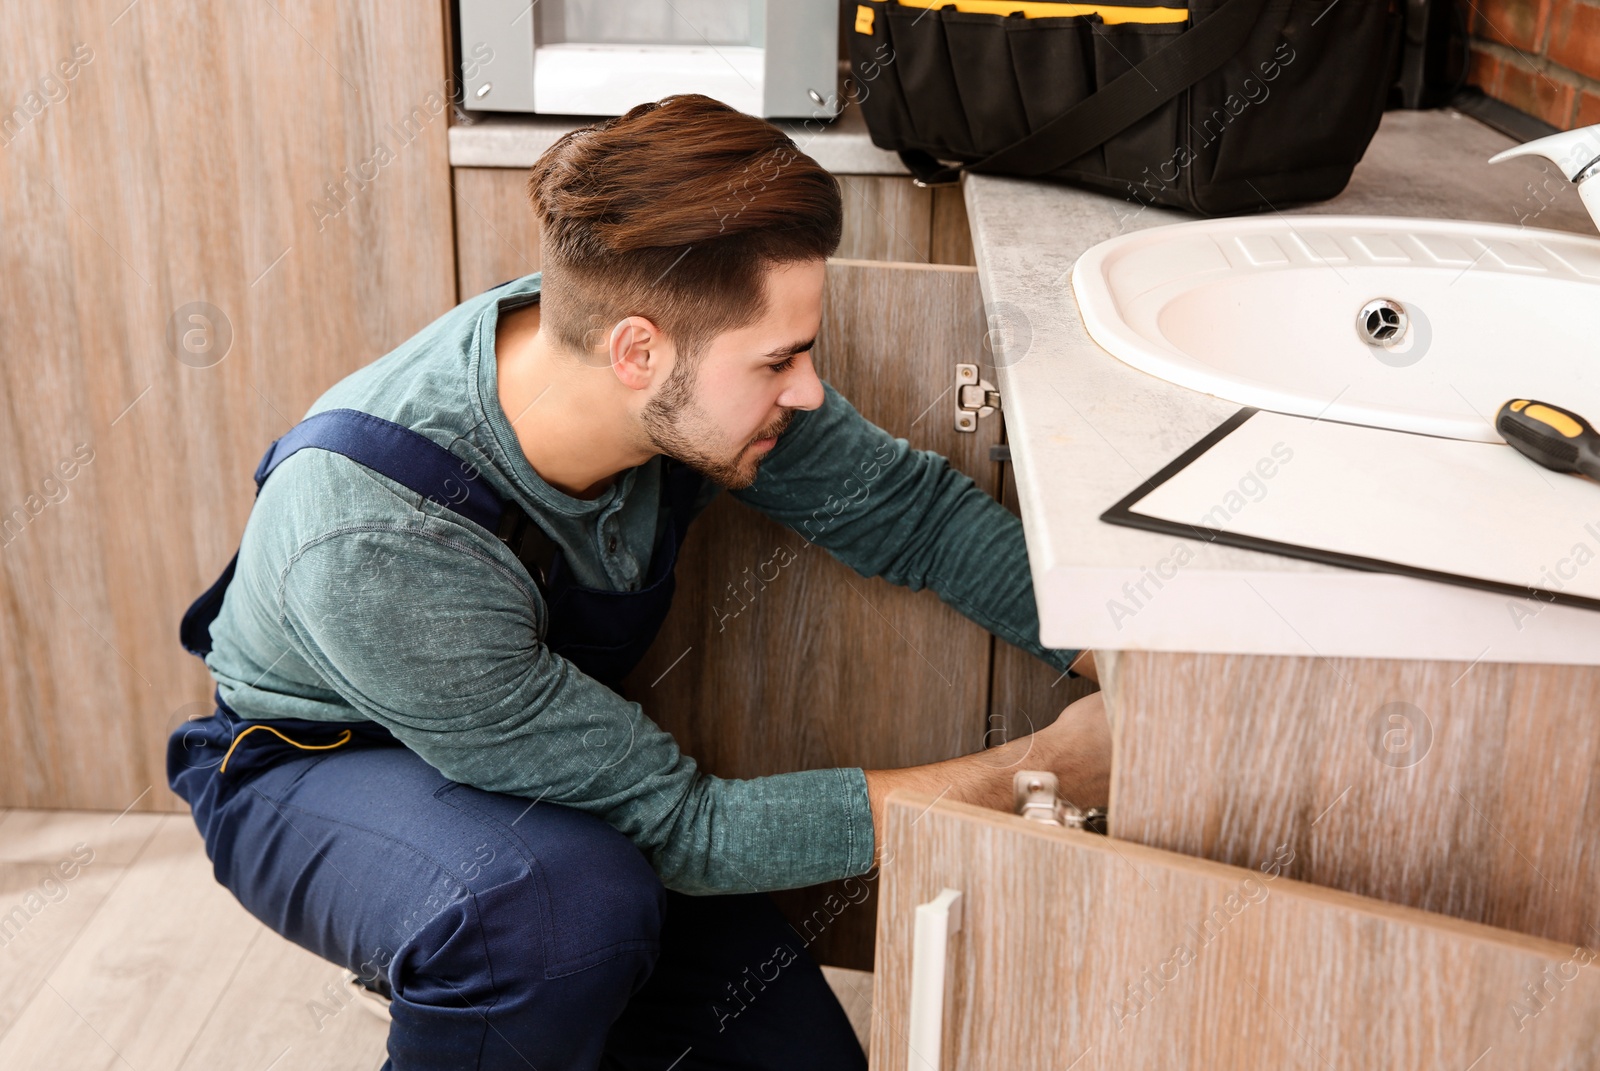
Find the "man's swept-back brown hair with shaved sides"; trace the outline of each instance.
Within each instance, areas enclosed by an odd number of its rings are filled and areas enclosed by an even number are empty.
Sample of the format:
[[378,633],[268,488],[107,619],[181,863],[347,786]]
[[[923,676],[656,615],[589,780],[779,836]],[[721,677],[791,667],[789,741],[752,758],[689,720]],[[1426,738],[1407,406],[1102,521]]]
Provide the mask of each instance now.
[[528,176],[541,330],[589,352],[642,315],[693,360],[762,317],[768,267],[838,248],[838,181],[763,118],[699,93],[574,130]]

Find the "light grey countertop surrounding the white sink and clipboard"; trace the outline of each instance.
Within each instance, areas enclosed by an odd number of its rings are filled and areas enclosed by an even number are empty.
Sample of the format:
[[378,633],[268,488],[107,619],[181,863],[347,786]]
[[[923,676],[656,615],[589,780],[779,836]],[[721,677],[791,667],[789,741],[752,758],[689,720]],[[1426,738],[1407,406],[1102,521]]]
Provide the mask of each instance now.
[[[1386,112],[1342,194],[1283,213],[1595,235],[1576,189],[1558,174],[1544,186],[1541,162],[1486,163],[1512,144],[1453,109]],[[1592,610],[1546,605],[1518,621],[1506,596],[1099,520],[1240,407],[1101,349],[1080,320],[1070,271],[1106,239],[1198,216],[1027,179],[968,174],[963,186],[984,301],[1021,325],[994,335],[995,386],[1046,647],[1600,664]],[[1600,520],[1600,499],[1595,512]],[[1112,600],[1128,605],[1123,584],[1138,584],[1178,546],[1192,560],[1147,588],[1152,597],[1136,613],[1114,616]]]

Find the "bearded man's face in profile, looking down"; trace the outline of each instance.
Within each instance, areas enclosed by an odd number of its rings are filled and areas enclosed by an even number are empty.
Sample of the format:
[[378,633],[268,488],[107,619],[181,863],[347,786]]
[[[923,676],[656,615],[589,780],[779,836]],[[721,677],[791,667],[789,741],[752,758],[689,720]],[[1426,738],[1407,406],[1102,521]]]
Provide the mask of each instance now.
[[822,403],[811,346],[822,325],[822,261],[766,271],[766,315],[718,335],[696,367],[675,359],[640,410],[654,448],[715,483],[755,482],[762,458],[795,410]]

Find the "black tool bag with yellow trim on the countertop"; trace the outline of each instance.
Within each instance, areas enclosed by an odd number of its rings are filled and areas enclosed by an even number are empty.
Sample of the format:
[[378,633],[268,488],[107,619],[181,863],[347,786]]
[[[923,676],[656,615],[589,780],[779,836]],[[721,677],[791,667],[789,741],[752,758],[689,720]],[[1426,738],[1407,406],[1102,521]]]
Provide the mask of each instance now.
[[962,6],[1014,11],[846,8],[872,141],[918,183],[965,166],[1208,216],[1342,191],[1382,118],[1405,29],[1395,0],[1192,0],[1187,18],[1139,0]]

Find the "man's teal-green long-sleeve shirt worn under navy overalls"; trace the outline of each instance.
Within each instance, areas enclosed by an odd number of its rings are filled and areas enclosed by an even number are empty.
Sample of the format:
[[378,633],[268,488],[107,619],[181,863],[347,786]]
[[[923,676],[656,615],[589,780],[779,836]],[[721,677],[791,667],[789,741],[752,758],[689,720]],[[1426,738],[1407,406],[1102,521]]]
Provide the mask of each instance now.
[[[422,432],[526,509],[579,583],[637,589],[664,511],[661,458],[573,498],[539,479],[499,403],[499,303],[538,288],[533,274],[456,306],[307,416],[355,408]],[[718,491],[707,482],[698,507]],[[1058,669],[1077,656],[1038,645],[1016,517],[832,384],[819,408],[795,411],[755,483],[728,493],[862,576],[933,588]],[[491,531],[342,455],[301,450],[256,499],[206,664],[242,717],[379,722],[454,781],[595,813],[669,888],[789,888],[870,866],[861,768],[701,773],[638,703],[550,653],[547,624],[539,589]]]

